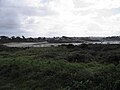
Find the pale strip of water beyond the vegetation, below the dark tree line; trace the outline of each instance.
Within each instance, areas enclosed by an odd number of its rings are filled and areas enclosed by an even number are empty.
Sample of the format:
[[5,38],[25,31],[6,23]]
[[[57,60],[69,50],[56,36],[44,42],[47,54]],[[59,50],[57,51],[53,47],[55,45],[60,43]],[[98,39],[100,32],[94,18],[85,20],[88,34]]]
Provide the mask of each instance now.
[[[80,45],[82,43],[42,43],[42,42],[36,42],[36,43],[6,43],[3,44],[8,47],[51,47],[51,46],[58,46],[58,45]],[[86,42],[86,44],[120,44],[120,41],[105,41],[105,42]]]

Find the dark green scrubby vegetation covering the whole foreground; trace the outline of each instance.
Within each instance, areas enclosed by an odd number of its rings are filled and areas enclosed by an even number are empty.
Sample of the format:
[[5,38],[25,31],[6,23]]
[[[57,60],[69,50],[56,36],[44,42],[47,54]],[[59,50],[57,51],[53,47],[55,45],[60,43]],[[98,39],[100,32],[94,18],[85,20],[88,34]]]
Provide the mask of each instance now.
[[120,45],[0,46],[0,90],[119,90]]

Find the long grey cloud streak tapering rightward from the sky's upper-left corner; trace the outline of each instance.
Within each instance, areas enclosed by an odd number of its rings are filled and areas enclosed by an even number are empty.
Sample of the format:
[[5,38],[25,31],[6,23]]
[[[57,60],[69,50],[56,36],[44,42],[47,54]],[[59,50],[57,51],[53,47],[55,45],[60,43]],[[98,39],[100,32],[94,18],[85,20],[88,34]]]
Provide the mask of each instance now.
[[[30,7],[30,6],[25,6],[24,4],[20,2],[16,2],[14,0],[14,2],[16,3],[10,3],[10,4],[6,4],[8,1],[8,3],[10,2],[10,0],[2,0],[2,3],[0,3],[0,8],[1,9],[8,9],[9,11],[15,11],[18,14],[23,14],[23,15],[27,15],[27,16],[48,16],[48,15],[53,15],[55,14],[55,11],[50,10],[49,8],[45,7],[40,7],[40,8],[36,8],[36,7]],[[24,1],[24,0],[23,0]],[[18,4],[19,3],[19,4]]]

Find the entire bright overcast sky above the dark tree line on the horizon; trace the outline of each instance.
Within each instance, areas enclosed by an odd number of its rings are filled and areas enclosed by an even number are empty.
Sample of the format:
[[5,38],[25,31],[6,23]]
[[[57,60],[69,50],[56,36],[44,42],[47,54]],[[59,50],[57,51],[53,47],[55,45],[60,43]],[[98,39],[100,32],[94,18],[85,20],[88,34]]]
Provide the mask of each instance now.
[[120,0],[0,0],[0,35],[120,35]]

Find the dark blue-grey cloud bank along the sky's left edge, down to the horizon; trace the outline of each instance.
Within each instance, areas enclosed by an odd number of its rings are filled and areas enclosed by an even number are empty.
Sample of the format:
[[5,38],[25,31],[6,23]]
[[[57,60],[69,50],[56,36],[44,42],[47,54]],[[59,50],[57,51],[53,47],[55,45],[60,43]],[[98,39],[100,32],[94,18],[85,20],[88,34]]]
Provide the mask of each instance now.
[[[12,0],[13,1],[13,0]],[[24,33],[21,28],[21,15],[16,8],[10,8],[7,4],[12,6],[9,0],[0,1],[0,35],[17,35]]]

